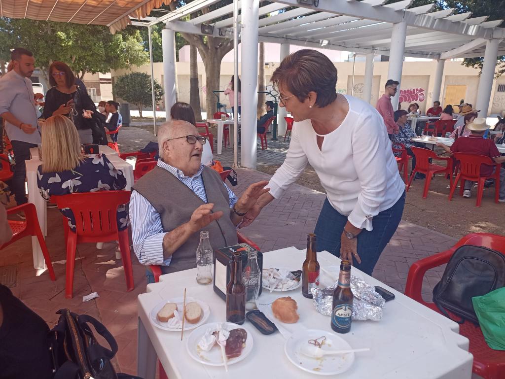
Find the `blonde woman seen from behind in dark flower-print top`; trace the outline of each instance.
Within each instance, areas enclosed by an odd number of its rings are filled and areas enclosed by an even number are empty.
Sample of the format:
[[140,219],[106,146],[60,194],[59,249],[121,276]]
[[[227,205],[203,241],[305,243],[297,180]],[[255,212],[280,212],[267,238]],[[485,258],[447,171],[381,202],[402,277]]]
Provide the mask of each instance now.
[[[67,117],[49,117],[41,131],[43,160],[38,167],[37,183],[45,200],[53,195],[125,189],[126,178],[107,156],[82,154],[77,129]],[[67,208],[61,212],[75,231],[72,211]],[[127,228],[128,215],[124,207],[118,208],[117,222],[119,230]]]

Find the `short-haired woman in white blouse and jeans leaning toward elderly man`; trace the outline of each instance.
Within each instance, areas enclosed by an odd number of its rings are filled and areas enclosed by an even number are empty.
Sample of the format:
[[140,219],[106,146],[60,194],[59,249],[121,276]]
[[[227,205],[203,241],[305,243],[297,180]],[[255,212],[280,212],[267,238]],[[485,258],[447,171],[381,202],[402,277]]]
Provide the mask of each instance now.
[[371,275],[405,205],[405,184],[382,117],[370,104],[337,94],[337,70],[315,50],[286,57],[271,81],[278,87],[280,105],[294,118],[291,143],[270,191],[241,227],[280,198],[309,163],[327,193],[315,229],[318,251],[347,259]]

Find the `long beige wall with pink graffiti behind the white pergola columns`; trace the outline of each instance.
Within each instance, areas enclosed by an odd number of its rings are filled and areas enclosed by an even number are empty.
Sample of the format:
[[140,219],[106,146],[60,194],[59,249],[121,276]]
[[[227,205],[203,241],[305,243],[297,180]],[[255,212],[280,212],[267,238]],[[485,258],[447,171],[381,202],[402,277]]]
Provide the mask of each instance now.
[[[444,75],[442,78],[442,88],[440,91],[440,99],[433,99],[433,85],[436,69],[436,62],[404,62],[402,71],[402,80],[400,83],[400,96],[402,99],[401,108],[407,109],[411,102],[417,102],[423,113],[432,106],[434,100],[440,100],[442,106],[446,94],[446,88],[450,85],[466,85],[466,93],[464,99],[466,102],[475,104],[477,89],[479,86],[478,70],[465,67],[461,62],[445,62]],[[336,62],[335,67],[338,71],[337,92],[351,94],[352,83],[352,62]],[[270,77],[275,69],[279,66],[279,62],[269,62],[268,67],[265,67],[265,75],[267,78],[267,89],[270,85]],[[177,79],[178,79],[178,100],[189,102],[189,63],[177,62]],[[374,62],[374,78],[372,82],[372,99],[371,104],[375,105],[378,97],[382,96],[384,85],[387,81],[388,62]],[[150,65],[135,67],[132,70],[117,70],[111,73],[112,78],[124,75],[128,72],[138,71],[145,72],[150,75]],[[155,78],[163,85],[163,64],[154,64]],[[233,75],[233,63],[223,62],[221,64],[221,80],[219,88],[215,90],[223,91],[226,89],[231,75]],[[239,71],[240,75],[240,71]],[[354,78],[354,95],[363,97],[363,83],[365,75],[365,62],[356,62],[355,78]],[[205,68],[203,62],[198,62],[198,79],[200,89],[200,103],[205,106],[206,96],[214,96],[213,89],[208,89],[205,85]],[[500,87],[500,84],[503,86]],[[270,86],[269,86],[270,85]],[[499,92],[499,90],[502,90]],[[217,97],[214,96],[217,101]],[[229,107],[227,98],[220,95],[220,101],[224,102]],[[160,109],[164,110],[163,103],[159,104]],[[505,77],[500,77],[493,83],[491,101],[489,106],[490,114],[499,114],[505,110]],[[205,112],[205,110],[203,110]],[[214,110],[212,110],[214,111]]]

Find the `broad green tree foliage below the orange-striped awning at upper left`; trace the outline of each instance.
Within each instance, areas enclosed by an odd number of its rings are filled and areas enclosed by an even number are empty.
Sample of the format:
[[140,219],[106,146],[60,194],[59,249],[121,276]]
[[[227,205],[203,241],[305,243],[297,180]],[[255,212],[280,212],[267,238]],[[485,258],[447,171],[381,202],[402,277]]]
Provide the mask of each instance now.
[[9,61],[11,48],[25,47],[46,75],[53,61],[65,62],[81,78],[87,72],[140,66],[149,60],[141,43],[134,29],[113,35],[99,25],[0,19],[0,59]]

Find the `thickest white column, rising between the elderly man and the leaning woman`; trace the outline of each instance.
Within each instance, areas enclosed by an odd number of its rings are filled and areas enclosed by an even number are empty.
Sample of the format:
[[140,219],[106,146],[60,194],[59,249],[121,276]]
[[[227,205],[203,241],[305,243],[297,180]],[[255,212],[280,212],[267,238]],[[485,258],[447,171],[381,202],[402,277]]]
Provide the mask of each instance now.
[[258,105],[258,18],[260,2],[242,0],[242,81],[240,166],[256,169],[256,107]]

